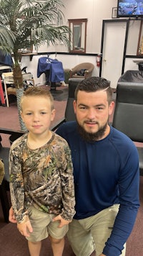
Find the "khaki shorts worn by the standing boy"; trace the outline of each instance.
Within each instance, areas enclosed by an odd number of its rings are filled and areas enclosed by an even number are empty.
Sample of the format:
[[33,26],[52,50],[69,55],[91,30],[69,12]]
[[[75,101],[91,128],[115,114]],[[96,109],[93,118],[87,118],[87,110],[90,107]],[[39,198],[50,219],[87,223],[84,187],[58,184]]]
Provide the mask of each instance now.
[[69,229],[69,225],[64,225],[64,227],[59,228],[59,221],[52,221],[55,216],[55,214],[47,214],[34,207],[30,207],[29,219],[33,232],[30,234],[30,237],[26,237],[26,239],[31,242],[38,242],[49,235],[55,239],[63,238]]

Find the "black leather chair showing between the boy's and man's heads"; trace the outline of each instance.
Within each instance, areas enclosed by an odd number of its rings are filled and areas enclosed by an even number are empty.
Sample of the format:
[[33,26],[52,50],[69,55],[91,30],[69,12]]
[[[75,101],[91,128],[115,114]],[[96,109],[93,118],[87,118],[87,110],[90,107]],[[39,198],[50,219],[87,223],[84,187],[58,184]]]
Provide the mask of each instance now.
[[69,93],[68,93],[68,99],[66,103],[66,109],[64,118],[60,120],[57,124],[54,125],[54,127],[51,127],[52,131],[55,131],[62,123],[74,121],[76,119],[74,114],[74,108],[73,108],[73,101],[74,101],[74,91],[77,88],[77,85],[80,81],[84,80],[84,78],[69,78]]

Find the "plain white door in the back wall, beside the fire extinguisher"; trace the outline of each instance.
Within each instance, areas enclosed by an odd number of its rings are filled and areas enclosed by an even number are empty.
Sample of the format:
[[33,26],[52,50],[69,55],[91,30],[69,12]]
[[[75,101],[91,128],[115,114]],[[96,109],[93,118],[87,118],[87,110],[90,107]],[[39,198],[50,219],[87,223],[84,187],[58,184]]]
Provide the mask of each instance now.
[[111,81],[111,87],[117,88],[122,75],[124,47],[126,43],[127,22],[104,22],[102,34],[102,71],[101,76]]

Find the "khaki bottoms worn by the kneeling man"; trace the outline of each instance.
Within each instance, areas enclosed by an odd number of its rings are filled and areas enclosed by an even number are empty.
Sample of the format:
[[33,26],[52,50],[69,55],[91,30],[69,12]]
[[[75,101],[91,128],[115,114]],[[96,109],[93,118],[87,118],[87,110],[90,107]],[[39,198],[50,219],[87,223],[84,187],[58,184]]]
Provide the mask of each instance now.
[[[96,251],[96,256],[102,254],[105,242],[110,237],[114,220],[119,211],[119,205],[100,211],[94,216],[85,219],[73,219],[69,223],[67,237],[71,244],[74,254],[77,256],[89,256]],[[122,256],[125,256],[126,244],[122,250]]]

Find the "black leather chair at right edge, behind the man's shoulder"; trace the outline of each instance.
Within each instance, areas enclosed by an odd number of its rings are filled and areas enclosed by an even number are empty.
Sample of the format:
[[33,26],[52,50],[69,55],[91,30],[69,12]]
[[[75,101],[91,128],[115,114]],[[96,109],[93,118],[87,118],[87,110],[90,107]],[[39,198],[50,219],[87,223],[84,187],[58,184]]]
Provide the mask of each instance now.
[[[118,83],[112,126],[124,132],[134,142],[143,142],[143,85]],[[143,147],[139,152],[139,170],[143,175]]]

